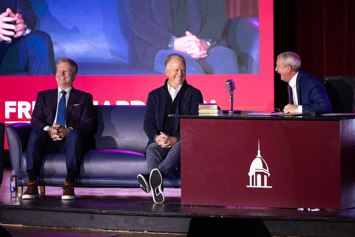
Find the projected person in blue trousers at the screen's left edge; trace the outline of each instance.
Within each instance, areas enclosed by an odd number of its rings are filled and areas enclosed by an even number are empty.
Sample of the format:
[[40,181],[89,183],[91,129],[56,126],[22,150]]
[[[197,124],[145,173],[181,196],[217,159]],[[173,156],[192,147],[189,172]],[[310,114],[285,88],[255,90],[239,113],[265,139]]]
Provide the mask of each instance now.
[[53,43],[28,0],[0,0],[0,75],[54,75]]

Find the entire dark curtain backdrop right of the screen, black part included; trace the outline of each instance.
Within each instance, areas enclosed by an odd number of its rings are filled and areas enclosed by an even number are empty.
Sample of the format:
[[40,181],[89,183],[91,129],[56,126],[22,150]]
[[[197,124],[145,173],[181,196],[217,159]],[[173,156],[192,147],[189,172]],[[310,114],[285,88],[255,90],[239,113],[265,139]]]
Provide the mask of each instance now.
[[[285,51],[301,69],[324,76],[355,75],[354,0],[274,0],[274,60]],[[287,84],[275,74],[275,107],[287,104]]]

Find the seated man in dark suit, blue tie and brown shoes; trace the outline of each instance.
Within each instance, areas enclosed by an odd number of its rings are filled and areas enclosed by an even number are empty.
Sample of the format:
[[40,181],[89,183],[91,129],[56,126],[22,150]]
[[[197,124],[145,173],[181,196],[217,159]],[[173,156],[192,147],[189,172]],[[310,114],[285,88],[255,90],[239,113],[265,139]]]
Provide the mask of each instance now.
[[56,82],[53,90],[37,95],[32,112],[27,146],[28,187],[22,199],[39,197],[37,175],[48,152],[66,153],[67,178],[62,199],[75,199],[74,181],[86,147],[86,136],[93,130],[95,110],[92,95],[73,87],[78,65],[68,58],[56,63]]

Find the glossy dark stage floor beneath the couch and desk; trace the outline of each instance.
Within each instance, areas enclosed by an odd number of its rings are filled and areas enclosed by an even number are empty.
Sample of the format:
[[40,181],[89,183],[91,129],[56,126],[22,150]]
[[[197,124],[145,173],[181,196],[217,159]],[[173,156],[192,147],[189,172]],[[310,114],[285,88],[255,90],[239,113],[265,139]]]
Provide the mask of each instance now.
[[1,224],[186,235],[193,216],[259,217],[272,236],[355,236],[355,209],[184,206],[180,189],[173,188],[164,189],[162,204],[155,204],[152,194],[139,188],[75,188],[75,200],[61,200],[61,187],[46,187],[40,198],[11,199],[10,175],[11,169],[5,168],[0,188]]

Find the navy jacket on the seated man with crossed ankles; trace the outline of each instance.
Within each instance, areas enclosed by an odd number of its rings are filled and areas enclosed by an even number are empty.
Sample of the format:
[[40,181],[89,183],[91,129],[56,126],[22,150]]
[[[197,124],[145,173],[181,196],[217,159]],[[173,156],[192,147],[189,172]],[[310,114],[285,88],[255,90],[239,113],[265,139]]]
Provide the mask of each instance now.
[[[174,99],[176,110],[173,114],[197,114],[198,103],[203,103],[202,93],[195,87],[187,84],[186,80],[182,84],[178,94]],[[165,80],[164,86],[161,86],[148,94],[146,114],[144,115],[144,132],[149,138],[149,143],[153,142],[155,134],[160,131],[165,132],[165,120],[168,118],[167,108],[173,104],[168,92],[168,79]],[[169,136],[180,137],[180,119],[174,117],[173,134]]]

